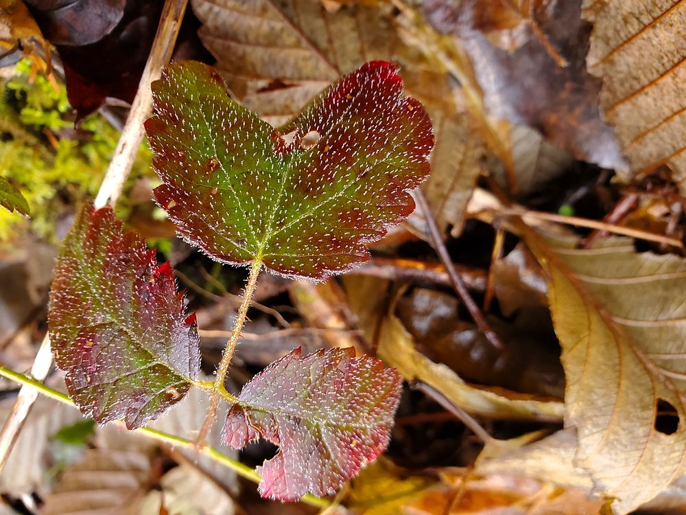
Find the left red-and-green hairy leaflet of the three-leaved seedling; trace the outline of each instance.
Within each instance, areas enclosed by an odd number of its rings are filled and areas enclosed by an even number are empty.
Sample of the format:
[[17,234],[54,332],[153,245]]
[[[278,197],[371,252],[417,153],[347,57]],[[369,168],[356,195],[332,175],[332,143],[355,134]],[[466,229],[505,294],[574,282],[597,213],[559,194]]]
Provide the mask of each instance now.
[[179,402],[198,374],[195,317],[184,314],[171,266],[112,209],[84,207],[54,273],[49,330],[82,413],[142,426]]

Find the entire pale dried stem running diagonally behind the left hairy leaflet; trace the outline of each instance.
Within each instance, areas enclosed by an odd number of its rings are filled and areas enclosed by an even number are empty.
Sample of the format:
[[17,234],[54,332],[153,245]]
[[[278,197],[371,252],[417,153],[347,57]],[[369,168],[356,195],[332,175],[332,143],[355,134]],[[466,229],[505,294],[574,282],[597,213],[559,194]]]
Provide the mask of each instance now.
[[[110,205],[117,203],[143,139],[143,120],[147,117],[152,105],[150,82],[160,76],[162,67],[171,58],[171,51],[174,49],[174,43],[176,42],[176,36],[187,3],[188,0],[165,1],[160,24],[152,43],[150,56],[147,58],[136,98],[131,106],[126,125],[119,137],[115,155],[110,162],[95,198],[95,207],[104,207],[108,201]],[[32,377],[38,381],[45,380],[51,365],[50,340],[49,335],[46,334],[31,367]],[[36,397],[35,389],[23,386],[19,390],[14,407],[12,407],[10,416],[5,420],[2,432],[0,433],[0,470],[2,470],[10,455],[12,446],[36,401]]]

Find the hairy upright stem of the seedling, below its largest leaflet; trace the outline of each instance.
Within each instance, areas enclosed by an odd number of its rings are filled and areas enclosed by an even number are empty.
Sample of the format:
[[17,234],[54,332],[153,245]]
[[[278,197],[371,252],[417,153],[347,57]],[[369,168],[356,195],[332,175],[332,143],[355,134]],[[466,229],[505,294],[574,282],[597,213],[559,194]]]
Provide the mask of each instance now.
[[262,268],[261,258],[256,258],[252,262],[250,267],[250,274],[248,275],[248,282],[246,283],[246,289],[243,292],[243,299],[241,300],[241,306],[238,308],[236,313],[236,319],[233,322],[233,329],[231,330],[231,336],[226,342],[226,347],[224,347],[224,354],[222,354],[222,361],[220,361],[219,367],[217,367],[217,376],[215,377],[214,385],[210,391],[210,405],[207,409],[207,415],[205,415],[205,420],[202,422],[202,428],[200,428],[200,433],[198,433],[198,438],[196,439],[196,446],[202,448],[205,443],[205,438],[210,432],[215,419],[217,418],[217,409],[219,408],[219,402],[222,397],[228,397],[228,392],[224,387],[224,380],[226,379],[226,372],[228,372],[228,367],[231,365],[231,358],[233,358],[233,352],[236,350],[236,345],[238,339],[241,336],[241,330],[246,321],[246,315],[248,314],[248,308],[250,308],[250,303],[252,302],[252,295],[255,295],[255,288],[257,287],[257,277]]

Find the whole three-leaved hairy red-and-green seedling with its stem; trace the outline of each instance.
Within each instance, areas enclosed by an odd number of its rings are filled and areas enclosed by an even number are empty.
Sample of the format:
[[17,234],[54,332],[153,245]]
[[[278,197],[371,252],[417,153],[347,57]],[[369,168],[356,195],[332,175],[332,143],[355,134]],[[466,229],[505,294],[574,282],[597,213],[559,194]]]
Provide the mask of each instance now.
[[215,380],[198,380],[196,317],[185,313],[170,264],[158,266],[112,209],[84,207],[49,304],[69,394],[96,422],[133,429],[204,389],[198,446],[226,399],[224,443],[279,446],[257,468],[262,496],[331,494],[386,448],[398,372],[353,349],[296,349],[237,397],[224,382],[261,271],[311,280],[342,273],[412,212],[409,191],[429,174],[429,117],[403,93],[396,67],[381,61],[340,79],[279,128],[233,102],[217,71],[199,62],[169,65],[152,93],[145,130],[162,181],[156,202],[181,238],[218,262],[249,267],[241,306]]

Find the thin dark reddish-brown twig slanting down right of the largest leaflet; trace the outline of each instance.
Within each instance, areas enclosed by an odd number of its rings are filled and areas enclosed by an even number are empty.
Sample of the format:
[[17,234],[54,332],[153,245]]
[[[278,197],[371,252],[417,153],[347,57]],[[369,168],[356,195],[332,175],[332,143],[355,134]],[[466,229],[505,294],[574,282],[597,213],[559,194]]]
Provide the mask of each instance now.
[[484,318],[479,306],[476,305],[474,299],[472,299],[471,295],[469,295],[469,290],[467,290],[462,277],[460,277],[455,270],[453,260],[451,260],[448,249],[445,248],[445,244],[440,237],[440,231],[438,231],[438,226],[436,225],[434,215],[431,213],[431,209],[429,208],[429,203],[427,203],[427,200],[421,190],[417,189],[414,192],[414,200],[417,203],[417,207],[419,207],[424,214],[424,218],[426,218],[429,234],[431,235],[431,240],[434,242],[434,249],[436,250],[436,253],[438,253],[440,260],[445,265],[445,269],[450,277],[450,282],[458,294],[458,297],[460,297],[460,300],[462,300],[462,304],[464,304],[467,310],[469,310],[469,314],[471,314],[474,323],[476,323],[479,330],[484,334],[484,336],[486,336],[486,339],[490,342],[490,344],[498,350],[503,350],[504,345],[500,341],[499,336],[496,334],[493,328],[490,327],[490,324]]

